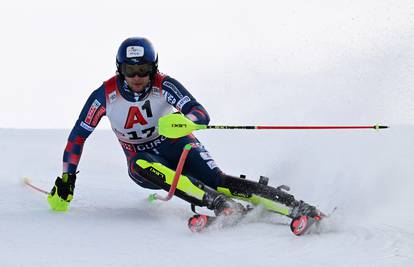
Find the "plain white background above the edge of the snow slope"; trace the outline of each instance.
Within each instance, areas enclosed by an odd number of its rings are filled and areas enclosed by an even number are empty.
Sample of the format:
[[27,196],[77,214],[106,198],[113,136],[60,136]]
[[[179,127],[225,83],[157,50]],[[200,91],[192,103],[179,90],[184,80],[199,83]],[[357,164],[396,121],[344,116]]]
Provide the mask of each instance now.
[[412,0],[13,1],[0,32],[0,128],[71,128],[129,36],[212,123],[414,121]]

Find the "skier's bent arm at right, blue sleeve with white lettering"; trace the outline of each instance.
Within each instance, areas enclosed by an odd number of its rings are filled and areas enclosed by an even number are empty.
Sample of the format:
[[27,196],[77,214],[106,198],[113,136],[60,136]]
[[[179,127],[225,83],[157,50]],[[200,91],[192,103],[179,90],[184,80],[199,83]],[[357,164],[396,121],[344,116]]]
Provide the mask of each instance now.
[[204,107],[177,80],[166,77],[162,92],[167,102],[197,124],[208,124],[210,117]]

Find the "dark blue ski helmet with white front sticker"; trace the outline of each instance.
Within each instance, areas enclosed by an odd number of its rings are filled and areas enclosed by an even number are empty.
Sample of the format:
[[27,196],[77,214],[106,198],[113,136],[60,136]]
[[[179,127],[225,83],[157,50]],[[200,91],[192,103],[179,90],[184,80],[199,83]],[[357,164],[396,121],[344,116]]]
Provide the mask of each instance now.
[[122,75],[122,64],[142,65],[150,63],[153,67],[151,77],[158,70],[158,54],[152,43],[143,37],[131,37],[121,43],[116,55],[116,68]]

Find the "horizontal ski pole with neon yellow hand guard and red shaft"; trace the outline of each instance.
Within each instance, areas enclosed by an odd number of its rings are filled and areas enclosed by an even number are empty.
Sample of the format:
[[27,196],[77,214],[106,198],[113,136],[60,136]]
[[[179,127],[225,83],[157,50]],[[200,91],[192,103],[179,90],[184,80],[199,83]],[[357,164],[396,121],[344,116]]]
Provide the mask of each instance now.
[[174,113],[161,117],[158,120],[159,134],[168,138],[179,138],[204,129],[243,129],[243,130],[326,130],[326,129],[385,129],[383,125],[359,125],[359,126],[228,126],[228,125],[204,125],[196,124],[184,115]]

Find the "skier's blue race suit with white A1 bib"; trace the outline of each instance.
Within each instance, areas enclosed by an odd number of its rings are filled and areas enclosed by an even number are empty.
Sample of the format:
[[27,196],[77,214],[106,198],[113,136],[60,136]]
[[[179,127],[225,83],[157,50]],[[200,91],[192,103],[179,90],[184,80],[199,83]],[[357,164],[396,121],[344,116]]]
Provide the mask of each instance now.
[[131,91],[125,80],[114,76],[92,92],[73,127],[63,154],[63,172],[75,173],[85,140],[103,116],[107,116],[127,158],[129,176],[138,185],[159,189],[135,170],[144,159],[175,169],[183,147],[195,143],[183,174],[217,188],[221,170],[204,146],[192,135],[169,139],[158,134],[159,117],[179,111],[199,124],[208,124],[207,111],[175,79],[157,73],[144,93]]

